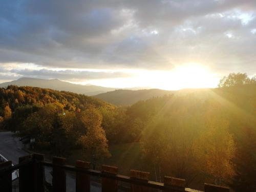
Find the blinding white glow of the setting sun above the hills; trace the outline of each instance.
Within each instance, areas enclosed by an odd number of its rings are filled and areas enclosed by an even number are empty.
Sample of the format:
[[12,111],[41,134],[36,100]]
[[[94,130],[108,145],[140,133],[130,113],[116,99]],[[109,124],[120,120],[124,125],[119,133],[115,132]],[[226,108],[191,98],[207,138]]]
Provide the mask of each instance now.
[[180,90],[185,88],[214,88],[217,87],[219,77],[209,67],[199,63],[185,63],[177,65],[172,70],[123,70],[132,74],[125,78],[99,79],[87,83],[113,88],[163,89]]

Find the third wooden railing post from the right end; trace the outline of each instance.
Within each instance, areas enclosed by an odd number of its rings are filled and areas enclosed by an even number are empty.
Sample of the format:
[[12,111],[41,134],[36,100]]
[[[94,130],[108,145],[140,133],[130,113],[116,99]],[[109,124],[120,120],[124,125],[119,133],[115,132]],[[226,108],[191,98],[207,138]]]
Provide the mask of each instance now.
[[[131,170],[131,178],[136,180],[141,180],[142,182],[147,182],[150,179],[150,173],[140,172],[139,170]],[[146,192],[146,191],[151,191],[151,188],[143,185],[131,184],[131,191]]]

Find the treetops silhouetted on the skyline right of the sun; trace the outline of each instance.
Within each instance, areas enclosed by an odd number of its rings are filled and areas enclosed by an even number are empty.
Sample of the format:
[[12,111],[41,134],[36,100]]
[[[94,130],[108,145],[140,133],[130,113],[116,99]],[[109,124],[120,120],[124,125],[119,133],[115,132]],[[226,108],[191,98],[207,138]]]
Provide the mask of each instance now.
[[249,78],[246,73],[230,73],[220,80],[218,87],[242,86],[245,84],[256,84],[255,77]]

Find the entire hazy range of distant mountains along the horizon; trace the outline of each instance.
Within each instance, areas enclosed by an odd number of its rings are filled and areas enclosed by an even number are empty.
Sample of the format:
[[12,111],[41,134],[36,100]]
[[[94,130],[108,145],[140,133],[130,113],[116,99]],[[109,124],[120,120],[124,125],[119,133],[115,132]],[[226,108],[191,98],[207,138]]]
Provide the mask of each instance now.
[[[0,87],[5,88],[9,85],[14,86],[30,86],[47,88],[57,91],[69,91],[78,94],[84,94],[93,96],[98,99],[102,99],[106,102],[115,104],[117,106],[132,105],[140,100],[150,99],[152,97],[161,97],[168,94],[187,94],[195,92],[205,92],[208,89],[183,89],[178,91],[167,91],[160,89],[144,89],[144,88],[106,88],[101,86],[94,86],[92,84],[80,85],[66,81],[60,81],[58,79],[37,79],[22,77],[14,81],[4,82],[0,84]],[[209,93],[206,91],[205,93]],[[201,93],[202,95],[202,93]]]

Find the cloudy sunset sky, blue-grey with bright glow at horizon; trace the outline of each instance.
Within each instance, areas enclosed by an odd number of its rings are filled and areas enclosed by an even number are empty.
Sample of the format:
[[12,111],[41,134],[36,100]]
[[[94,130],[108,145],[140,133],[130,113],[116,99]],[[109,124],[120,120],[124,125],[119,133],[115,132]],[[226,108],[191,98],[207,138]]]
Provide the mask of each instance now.
[[255,0],[2,0],[0,82],[217,87],[256,74]]

